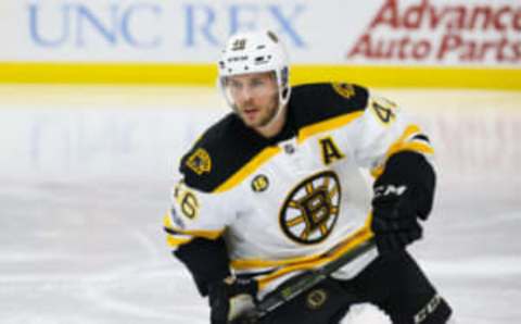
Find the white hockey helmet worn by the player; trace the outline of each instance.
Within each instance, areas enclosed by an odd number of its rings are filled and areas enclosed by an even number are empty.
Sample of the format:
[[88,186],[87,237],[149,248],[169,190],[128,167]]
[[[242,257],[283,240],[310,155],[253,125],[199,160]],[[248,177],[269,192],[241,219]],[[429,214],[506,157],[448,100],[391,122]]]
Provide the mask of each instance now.
[[234,110],[227,94],[226,78],[233,75],[274,72],[278,86],[279,107],[275,121],[290,100],[289,59],[284,46],[270,30],[240,33],[231,36],[218,63],[218,85],[227,103]]

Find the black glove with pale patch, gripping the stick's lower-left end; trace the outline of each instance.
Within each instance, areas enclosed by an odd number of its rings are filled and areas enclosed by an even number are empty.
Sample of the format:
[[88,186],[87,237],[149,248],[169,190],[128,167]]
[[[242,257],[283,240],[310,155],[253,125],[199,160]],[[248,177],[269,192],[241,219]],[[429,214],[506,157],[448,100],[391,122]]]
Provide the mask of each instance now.
[[257,282],[228,277],[208,286],[211,324],[228,324],[255,307]]

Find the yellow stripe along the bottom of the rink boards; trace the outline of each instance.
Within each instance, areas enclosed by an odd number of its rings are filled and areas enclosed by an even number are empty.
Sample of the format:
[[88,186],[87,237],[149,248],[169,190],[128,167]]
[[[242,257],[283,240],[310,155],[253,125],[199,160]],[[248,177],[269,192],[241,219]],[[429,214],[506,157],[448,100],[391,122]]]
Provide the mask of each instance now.
[[[112,84],[214,86],[214,64],[0,62],[3,84]],[[368,87],[521,90],[520,68],[298,65],[292,84],[348,82]]]

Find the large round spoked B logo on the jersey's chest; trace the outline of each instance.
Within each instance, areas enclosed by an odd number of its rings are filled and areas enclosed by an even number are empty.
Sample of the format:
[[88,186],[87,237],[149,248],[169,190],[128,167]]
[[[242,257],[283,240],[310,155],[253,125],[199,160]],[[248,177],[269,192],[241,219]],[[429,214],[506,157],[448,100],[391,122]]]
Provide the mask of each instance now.
[[339,217],[340,197],[340,182],[333,172],[321,172],[305,179],[285,199],[279,215],[280,227],[300,244],[325,240]]

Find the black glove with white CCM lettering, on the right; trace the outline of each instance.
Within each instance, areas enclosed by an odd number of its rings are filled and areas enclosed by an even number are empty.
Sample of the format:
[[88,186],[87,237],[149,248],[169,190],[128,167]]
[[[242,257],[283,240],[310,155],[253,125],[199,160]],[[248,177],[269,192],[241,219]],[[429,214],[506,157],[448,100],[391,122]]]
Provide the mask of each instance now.
[[381,253],[404,249],[421,238],[418,219],[427,220],[433,202],[435,174],[425,158],[415,152],[392,155],[374,182],[372,224]]

